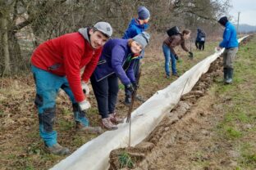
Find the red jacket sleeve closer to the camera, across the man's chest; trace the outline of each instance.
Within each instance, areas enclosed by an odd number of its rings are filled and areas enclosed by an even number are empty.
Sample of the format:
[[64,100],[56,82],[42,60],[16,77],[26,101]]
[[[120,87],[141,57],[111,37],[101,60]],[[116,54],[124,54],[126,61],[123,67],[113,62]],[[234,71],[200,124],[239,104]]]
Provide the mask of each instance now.
[[75,101],[84,101],[85,94],[83,93],[80,83],[80,60],[82,50],[74,41],[67,40],[64,46],[63,56],[67,81],[75,96]]

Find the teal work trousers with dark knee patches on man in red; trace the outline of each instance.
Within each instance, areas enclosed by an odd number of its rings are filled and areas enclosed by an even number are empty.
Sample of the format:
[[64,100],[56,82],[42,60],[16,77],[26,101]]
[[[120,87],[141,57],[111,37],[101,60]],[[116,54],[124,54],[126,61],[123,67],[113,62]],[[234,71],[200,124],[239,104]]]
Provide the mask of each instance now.
[[57,143],[57,132],[53,130],[53,124],[56,114],[55,100],[60,88],[62,88],[71,99],[75,121],[88,126],[85,113],[77,109],[78,104],[75,101],[75,97],[73,92],[71,92],[71,88],[65,76],[51,74],[34,65],[32,65],[31,70],[36,86],[34,103],[39,112],[39,134],[43,138],[45,145],[53,146]]

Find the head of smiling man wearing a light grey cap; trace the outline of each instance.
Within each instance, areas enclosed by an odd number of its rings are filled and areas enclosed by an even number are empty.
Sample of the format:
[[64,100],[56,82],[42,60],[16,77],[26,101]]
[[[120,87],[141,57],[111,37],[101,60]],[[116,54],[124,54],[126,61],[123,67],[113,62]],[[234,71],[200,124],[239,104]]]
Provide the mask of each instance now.
[[89,29],[89,42],[93,48],[103,47],[107,39],[112,36],[112,27],[107,22],[98,22]]

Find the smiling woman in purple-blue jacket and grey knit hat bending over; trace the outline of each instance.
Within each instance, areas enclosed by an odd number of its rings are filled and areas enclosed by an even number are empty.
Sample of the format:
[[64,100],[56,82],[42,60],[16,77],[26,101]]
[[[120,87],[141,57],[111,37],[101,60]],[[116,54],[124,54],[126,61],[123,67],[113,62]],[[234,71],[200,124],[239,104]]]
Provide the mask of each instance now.
[[138,87],[133,66],[136,58],[149,42],[149,34],[143,32],[134,38],[114,38],[106,42],[98,65],[91,76],[91,84],[98,103],[98,113],[102,117],[103,128],[117,129],[116,104],[118,78],[132,93]]

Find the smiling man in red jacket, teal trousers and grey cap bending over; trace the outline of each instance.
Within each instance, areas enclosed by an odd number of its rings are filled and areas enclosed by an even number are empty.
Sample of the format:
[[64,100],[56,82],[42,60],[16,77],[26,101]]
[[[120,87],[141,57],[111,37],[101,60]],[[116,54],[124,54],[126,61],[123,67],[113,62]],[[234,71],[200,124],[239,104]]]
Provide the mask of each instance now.
[[[101,132],[99,127],[89,127],[85,110],[90,104],[88,81],[93,73],[102,47],[112,36],[107,22],[98,22],[92,28],[64,34],[43,42],[32,55],[32,72],[36,85],[35,105],[39,111],[39,133],[48,150],[53,154],[69,154],[66,147],[57,143],[53,130],[55,100],[60,88],[70,97],[76,128],[85,132]],[[80,69],[84,73],[80,77]]]

